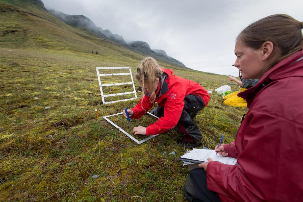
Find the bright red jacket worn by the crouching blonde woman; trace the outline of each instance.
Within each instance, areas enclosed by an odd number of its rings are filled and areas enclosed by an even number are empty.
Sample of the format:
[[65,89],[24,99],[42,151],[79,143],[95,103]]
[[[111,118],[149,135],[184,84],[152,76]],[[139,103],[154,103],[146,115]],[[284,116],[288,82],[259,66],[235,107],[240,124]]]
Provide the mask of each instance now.
[[[210,99],[209,94],[200,84],[172,75],[173,71],[171,69],[162,69],[162,71],[164,73],[161,81],[161,90],[155,101],[159,106],[164,107],[164,117],[159,118],[158,121],[147,127],[147,135],[160,134],[177,125],[184,107],[183,100],[185,95],[200,96],[205,102],[205,107]],[[141,98],[139,100],[139,103],[132,108],[134,115],[131,118],[138,119],[152,108],[155,102],[150,102],[149,98],[150,96],[145,94],[144,99],[142,100]]]

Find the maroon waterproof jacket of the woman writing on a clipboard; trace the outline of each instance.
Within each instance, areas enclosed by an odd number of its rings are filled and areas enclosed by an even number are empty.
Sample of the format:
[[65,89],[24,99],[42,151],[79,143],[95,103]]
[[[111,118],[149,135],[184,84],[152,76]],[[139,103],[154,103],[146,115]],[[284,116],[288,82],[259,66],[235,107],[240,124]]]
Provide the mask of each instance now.
[[238,96],[249,110],[224,149],[239,165],[209,162],[208,189],[221,201],[303,201],[303,50]]

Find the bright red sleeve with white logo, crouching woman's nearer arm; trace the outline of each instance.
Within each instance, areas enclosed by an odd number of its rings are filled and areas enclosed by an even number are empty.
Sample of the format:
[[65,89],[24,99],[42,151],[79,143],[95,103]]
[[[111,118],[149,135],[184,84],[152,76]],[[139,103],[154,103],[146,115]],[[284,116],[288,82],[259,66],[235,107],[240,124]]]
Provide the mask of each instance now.
[[185,87],[179,82],[171,85],[164,106],[164,117],[146,128],[146,134],[160,134],[175,127],[181,117],[184,107]]

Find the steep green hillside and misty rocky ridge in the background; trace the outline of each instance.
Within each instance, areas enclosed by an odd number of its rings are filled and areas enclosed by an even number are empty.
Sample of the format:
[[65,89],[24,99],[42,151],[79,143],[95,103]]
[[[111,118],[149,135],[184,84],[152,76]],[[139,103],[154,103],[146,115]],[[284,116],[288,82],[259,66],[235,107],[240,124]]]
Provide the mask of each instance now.
[[[86,53],[95,50],[99,55],[109,55],[111,50],[116,50],[138,60],[150,56],[168,66],[189,69],[180,61],[153,51],[144,41],[127,43],[122,35],[97,27],[84,15],[48,12],[39,0],[0,0],[0,3],[0,15],[3,16],[0,36],[4,36],[0,38],[0,47],[69,49]],[[116,55],[116,52],[112,54]]]

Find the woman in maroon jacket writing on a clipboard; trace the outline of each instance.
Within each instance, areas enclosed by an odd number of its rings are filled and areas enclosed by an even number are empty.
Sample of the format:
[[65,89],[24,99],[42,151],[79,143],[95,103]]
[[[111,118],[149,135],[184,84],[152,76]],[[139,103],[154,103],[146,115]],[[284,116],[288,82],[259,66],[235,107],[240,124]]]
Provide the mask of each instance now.
[[249,110],[235,142],[215,147],[238,165],[210,158],[199,164],[185,182],[189,201],[303,200],[302,28],[303,22],[278,14],[238,35],[235,66],[243,79],[260,80],[238,94]]

